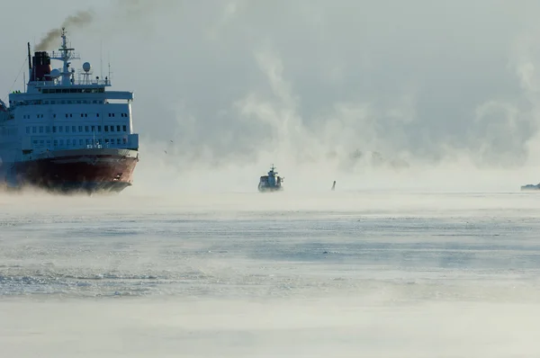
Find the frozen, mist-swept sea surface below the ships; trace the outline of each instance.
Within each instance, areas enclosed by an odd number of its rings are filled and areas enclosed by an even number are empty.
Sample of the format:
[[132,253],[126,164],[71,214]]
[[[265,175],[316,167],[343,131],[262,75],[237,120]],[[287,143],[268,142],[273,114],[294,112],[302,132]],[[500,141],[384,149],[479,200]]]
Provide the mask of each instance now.
[[537,357],[540,195],[0,196],[3,357]]

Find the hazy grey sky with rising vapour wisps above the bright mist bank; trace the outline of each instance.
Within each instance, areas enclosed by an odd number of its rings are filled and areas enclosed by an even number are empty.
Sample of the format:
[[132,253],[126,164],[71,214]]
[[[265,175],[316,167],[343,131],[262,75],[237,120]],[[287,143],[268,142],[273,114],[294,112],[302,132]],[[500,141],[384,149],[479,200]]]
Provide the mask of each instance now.
[[99,72],[103,41],[143,144],[178,163],[359,149],[508,167],[540,143],[537,1],[12,2],[0,92],[27,41],[88,9],[93,22],[68,28],[74,47]]

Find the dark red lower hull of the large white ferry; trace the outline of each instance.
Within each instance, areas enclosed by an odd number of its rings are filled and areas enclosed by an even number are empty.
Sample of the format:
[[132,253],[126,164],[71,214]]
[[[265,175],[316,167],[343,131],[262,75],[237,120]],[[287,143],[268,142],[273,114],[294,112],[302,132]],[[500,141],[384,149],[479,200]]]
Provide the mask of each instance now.
[[7,187],[31,186],[48,192],[121,192],[131,185],[137,151],[117,148],[64,150],[14,163]]

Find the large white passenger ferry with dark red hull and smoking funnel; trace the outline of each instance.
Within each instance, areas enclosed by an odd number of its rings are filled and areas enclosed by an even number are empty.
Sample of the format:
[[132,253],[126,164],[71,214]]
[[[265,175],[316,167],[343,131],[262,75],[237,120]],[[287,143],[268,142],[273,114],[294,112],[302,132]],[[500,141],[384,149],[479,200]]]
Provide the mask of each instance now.
[[[62,62],[61,68],[50,60]],[[0,101],[0,183],[7,189],[34,186],[50,192],[121,192],[132,184],[139,162],[133,132],[133,93],[105,91],[110,75],[93,77],[92,66],[67,45],[50,55],[28,43],[29,78],[24,92]]]

